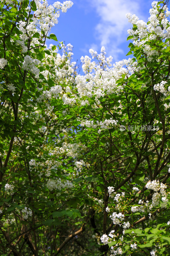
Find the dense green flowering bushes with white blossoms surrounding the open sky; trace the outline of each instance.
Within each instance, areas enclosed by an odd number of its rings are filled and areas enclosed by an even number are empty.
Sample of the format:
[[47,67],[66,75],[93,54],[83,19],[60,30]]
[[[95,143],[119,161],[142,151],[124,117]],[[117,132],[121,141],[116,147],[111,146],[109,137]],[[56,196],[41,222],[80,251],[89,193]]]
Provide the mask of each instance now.
[[127,14],[132,58],[90,49],[84,75],[46,45],[71,1],[0,5],[1,255],[169,255],[167,1]]

